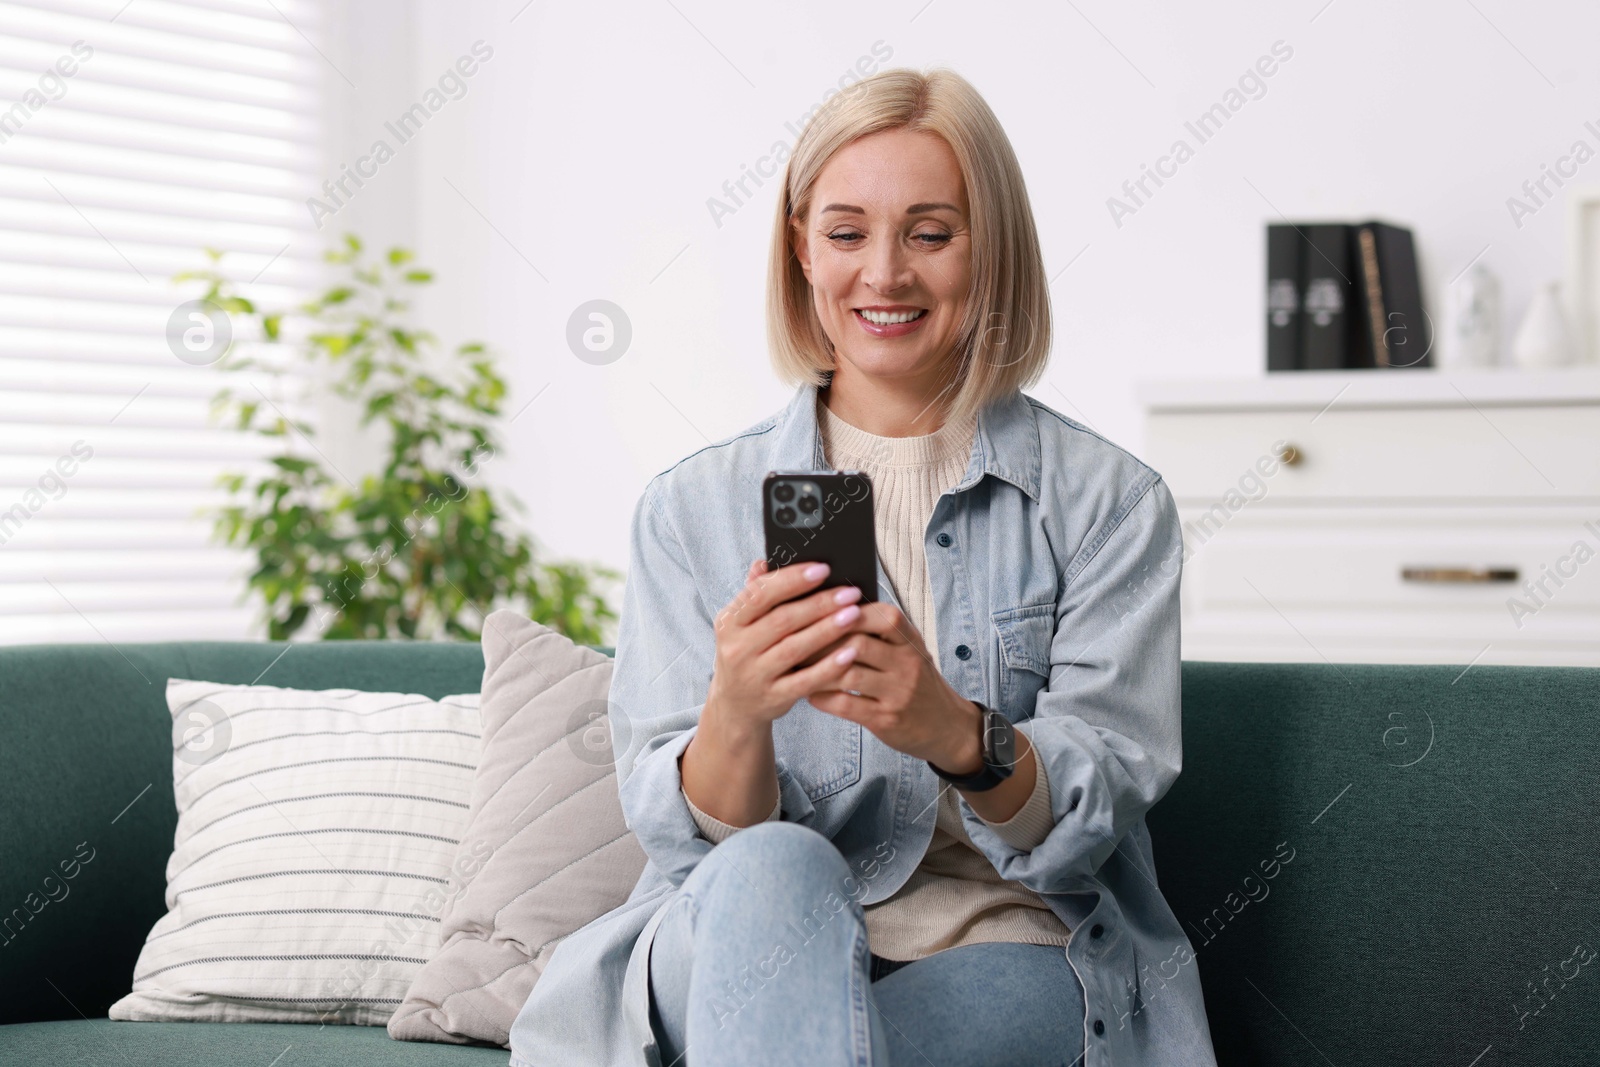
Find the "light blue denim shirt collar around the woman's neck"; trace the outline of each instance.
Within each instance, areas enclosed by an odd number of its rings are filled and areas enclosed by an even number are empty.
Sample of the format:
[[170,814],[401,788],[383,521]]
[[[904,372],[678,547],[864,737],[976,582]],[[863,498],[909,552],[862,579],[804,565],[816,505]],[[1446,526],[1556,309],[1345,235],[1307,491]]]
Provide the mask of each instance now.
[[[816,394],[814,384],[800,386],[779,418],[768,459],[773,470],[830,470],[816,418]],[[1011,390],[978,413],[973,456],[952,493],[970,490],[986,474],[1010,482],[1038,502],[1038,422],[1021,390]]]

